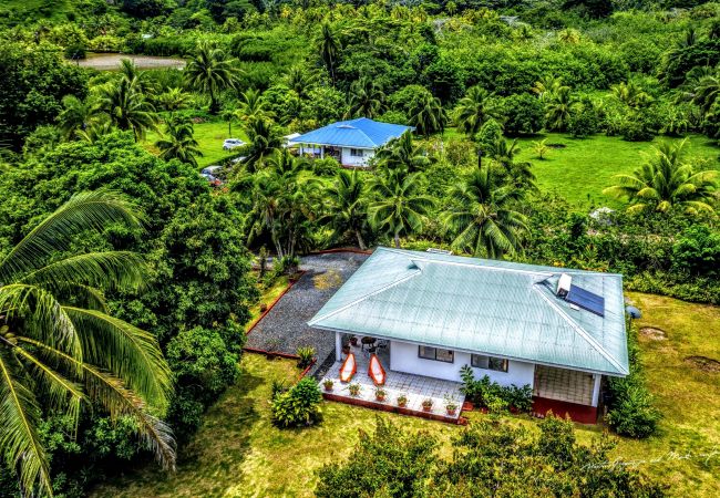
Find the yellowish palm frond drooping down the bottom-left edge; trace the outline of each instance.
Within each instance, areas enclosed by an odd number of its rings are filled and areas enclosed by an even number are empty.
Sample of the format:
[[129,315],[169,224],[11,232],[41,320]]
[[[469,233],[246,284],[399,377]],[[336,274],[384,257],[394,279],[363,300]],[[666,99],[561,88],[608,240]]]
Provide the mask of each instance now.
[[12,375],[8,350],[0,347],[0,449],[20,485],[32,495],[35,485],[52,495],[48,456],[38,438],[40,407],[35,396]]

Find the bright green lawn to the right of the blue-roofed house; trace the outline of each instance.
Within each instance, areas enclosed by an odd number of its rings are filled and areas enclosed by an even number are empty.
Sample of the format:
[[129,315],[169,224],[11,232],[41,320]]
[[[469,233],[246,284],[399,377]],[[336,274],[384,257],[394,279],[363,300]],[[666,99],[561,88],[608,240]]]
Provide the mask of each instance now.
[[[445,132],[446,138],[462,137],[454,128]],[[547,139],[547,144],[563,145],[553,148],[541,160],[535,154],[533,142]],[[595,135],[590,138],[576,139],[569,135],[547,133],[529,138],[520,138],[518,160],[533,163],[541,190],[555,191],[568,203],[588,208],[590,206],[610,206],[618,208],[621,203],[603,195],[603,189],[614,185],[613,176],[632,173],[645,160],[644,154],[651,154],[652,146],[670,138],[657,137],[654,142],[625,142],[620,137]],[[718,157],[720,147],[701,135],[690,136],[689,157],[710,160],[720,167]]]

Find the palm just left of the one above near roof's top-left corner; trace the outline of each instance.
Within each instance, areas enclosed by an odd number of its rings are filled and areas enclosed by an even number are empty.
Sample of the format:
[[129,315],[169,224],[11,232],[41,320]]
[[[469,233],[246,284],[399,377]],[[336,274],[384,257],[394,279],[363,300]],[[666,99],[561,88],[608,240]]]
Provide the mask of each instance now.
[[336,181],[322,193],[322,208],[326,214],[318,222],[332,229],[331,241],[341,240],[350,232],[361,250],[367,248],[362,232],[368,226],[368,203],[358,170],[339,170]]

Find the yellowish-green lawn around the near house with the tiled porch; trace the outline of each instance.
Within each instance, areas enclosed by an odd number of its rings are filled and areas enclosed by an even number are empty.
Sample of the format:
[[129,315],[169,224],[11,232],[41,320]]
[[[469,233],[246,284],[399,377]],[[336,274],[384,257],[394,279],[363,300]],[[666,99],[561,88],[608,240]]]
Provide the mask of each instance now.
[[[672,486],[670,496],[720,496],[720,373],[702,372],[685,361],[692,355],[720,360],[720,308],[649,294],[628,297],[645,314],[640,326],[667,333],[665,341],[646,336],[640,341],[650,388],[665,417],[659,435],[642,442],[620,439],[615,456],[644,460],[644,471]],[[318,427],[278,429],[269,421],[270,383],[297,378],[295,362],[247,354],[241,367],[237,385],[209,409],[191,445],[182,450],[176,474],[137,469],[97,488],[93,496],[311,496],[317,469],[349,455],[358,430],[372,429],[376,416],[409,429],[430,430],[445,455],[450,439],[461,430],[338,403],[323,405],[325,421]],[[513,419],[535,425],[526,417]],[[578,439],[587,443],[600,430],[579,426]]]

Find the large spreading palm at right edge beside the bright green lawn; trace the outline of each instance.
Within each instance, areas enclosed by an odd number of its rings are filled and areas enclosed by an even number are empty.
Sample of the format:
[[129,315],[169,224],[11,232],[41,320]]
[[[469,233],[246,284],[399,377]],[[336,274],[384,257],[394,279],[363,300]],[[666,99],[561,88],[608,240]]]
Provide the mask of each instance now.
[[718,170],[696,172],[685,160],[688,139],[662,143],[656,154],[631,175],[617,175],[618,184],[603,190],[615,197],[627,197],[628,211],[667,212],[679,208],[687,214],[713,212],[710,201],[718,186]]

